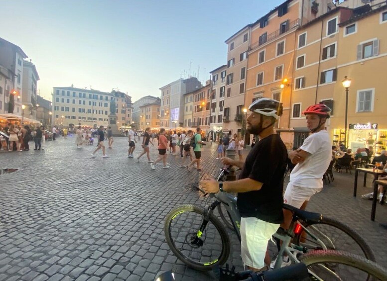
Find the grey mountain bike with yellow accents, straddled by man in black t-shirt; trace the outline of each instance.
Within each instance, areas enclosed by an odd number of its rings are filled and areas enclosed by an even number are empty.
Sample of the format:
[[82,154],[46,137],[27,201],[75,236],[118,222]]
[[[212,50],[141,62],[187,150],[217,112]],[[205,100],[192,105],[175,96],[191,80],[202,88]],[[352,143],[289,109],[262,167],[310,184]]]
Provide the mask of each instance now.
[[[229,236],[223,224],[214,215],[214,209],[219,204],[225,206],[238,239],[241,241],[241,216],[238,212],[235,197],[226,192],[218,192],[210,194],[210,196],[214,196],[215,200],[206,208],[189,204],[175,207],[166,216],[164,224],[165,238],[172,252],[183,263],[200,271],[209,271],[214,265],[224,264],[230,254],[231,243]],[[287,254],[293,263],[298,263],[297,253],[293,250],[302,254],[316,249],[337,250],[343,246],[334,244],[329,236],[318,232],[318,229],[315,233],[310,230],[312,227],[309,228],[309,226],[322,223],[322,214],[299,210],[286,204],[284,204],[284,208],[293,212],[293,218],[288,230],[279,228],[273,235],[277,240],[282,241],[280,247],[277,243],[279,257]],[[298,220],[303,221],[308,227],[298,223]],[[300,235],[303,231],[308,234],[308,238],[313,241],[313,244],[309,243],[308,240],[303,241],[301,239],[297,239],[298,245],[297,243],[290,243],[294,237]],[[375,261],[373,252],[363,238],[354,231],[348,231],[347,234],[352,239],[351,246],[357,245],[360,248],[358,252],[363,253],[362,256]],[[274,269],[280,268],[281,264],[282,259],[277,259]]]

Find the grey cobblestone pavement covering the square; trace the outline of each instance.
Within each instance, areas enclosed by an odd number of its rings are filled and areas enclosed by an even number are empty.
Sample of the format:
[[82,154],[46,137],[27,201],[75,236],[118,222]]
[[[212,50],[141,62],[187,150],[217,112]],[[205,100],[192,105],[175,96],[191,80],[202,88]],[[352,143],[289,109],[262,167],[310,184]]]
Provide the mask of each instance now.
[[[174,206],[205,206],[212,201],[193,186],[215,176],[216,146],[204,149],[204,171],[187,173],[179,156],[168,156],[170,169],[150,169],[127,158],[127,139],[115,138],[110,158],[90,159],[95,146],[77,149],[74,137],[46,142],[44,151],[0,152],[0,168],[21,170],[0,176],[1,280],[153,280],[173,270],[181,280],[214,280],[184,266],[169,250],[163,234]],[[150,148],[152,159],[157,150]],[[134,151],[140,153],[139,146]],[[188,161],[187,161],[188,162]],[[386,206],[370,220],[371,201],[352,196],[354,176],[335,173],[333,184],[315,195],[309,210],[346,222],[360,232],[387,267]],[[370,178],[370,177],[369,177]],[[370,192],[371,179],[358,194]],[[241,269],[240,246],[228,231],[229,263]]]

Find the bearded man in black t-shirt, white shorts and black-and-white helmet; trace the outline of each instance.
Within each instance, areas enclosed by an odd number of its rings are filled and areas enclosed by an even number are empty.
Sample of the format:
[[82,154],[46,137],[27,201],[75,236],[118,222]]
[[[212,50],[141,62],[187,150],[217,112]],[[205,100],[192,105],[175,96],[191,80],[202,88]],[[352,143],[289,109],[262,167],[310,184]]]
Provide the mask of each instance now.
[[247,118],[247,129],[259,136],[246,162],[222,158],[222,163],[242,168],[239,180],[218,183],[202,181],[207,193],[238,192],[241,214],[241,251],[243,264],[259,271],[269,257],[265,257],[267,243],[283,222],[283,174],[287,164],[287,150],[274,131],[274,123],[282,115],[282,103],[260,98],[254,101]]

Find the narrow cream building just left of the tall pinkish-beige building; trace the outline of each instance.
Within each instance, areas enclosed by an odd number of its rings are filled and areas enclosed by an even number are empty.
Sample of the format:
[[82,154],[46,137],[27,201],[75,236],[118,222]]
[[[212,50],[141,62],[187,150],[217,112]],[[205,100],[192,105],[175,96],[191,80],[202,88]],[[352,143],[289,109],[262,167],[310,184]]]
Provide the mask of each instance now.
[[212,76],[210,139],[217,140],[220,132],[223,131],[227,65],[214,69],[210,74]]

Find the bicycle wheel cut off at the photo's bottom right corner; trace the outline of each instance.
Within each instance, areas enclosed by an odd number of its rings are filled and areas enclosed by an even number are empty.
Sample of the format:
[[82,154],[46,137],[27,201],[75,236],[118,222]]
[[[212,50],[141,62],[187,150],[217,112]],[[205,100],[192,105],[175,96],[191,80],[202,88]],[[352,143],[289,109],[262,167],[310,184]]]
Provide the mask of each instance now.
[[313,280],[387,280],[387,271],[373,261],[340,251],[313,251],[300,258]]

